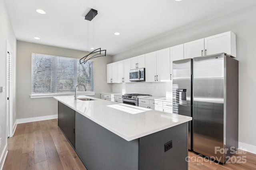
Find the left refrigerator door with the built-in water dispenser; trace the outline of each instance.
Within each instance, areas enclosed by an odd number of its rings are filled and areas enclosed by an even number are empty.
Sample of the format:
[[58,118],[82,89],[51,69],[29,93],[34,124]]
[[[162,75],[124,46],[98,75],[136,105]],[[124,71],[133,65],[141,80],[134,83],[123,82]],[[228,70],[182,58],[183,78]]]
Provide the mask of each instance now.
[[[172,62],[172,113],[192,117],[192,59]],[[188,122],[188,149],[192,150],[191,124]]]

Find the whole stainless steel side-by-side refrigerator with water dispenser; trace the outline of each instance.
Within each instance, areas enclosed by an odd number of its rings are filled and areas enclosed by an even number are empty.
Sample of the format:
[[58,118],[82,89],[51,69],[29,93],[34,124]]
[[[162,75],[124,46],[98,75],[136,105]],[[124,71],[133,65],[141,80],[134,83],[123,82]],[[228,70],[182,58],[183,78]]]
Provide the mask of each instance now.
[[[196,57],[191,62],[191,82],[186,86],[180,81],[187,70],[182,61],[173,62],[174,69],[179,68],[174,74],[181,75],[173,75],[173,89],[177,87],[174,113],[187,115],[190,105],[190,150],[225,163],[238,148],[238,61],[224,53]],[[177,74],[178,70],[184,74]],[[192,90],[187,89],[189,86]]]

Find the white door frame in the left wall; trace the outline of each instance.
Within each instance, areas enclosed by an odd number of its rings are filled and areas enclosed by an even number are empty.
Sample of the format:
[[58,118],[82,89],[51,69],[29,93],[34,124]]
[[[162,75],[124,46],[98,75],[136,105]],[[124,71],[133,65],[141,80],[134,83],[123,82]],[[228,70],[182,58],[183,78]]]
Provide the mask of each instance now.
[[[6,124],[7,124],[7,137],[12,137],[13,136],[13,123],[12,123],[12,94],[13,94],[13,50],[10,45],[10,43],[7,41],[7,48],[6,48]],[[8,57],[11,57],[11,69],[9,72],[9,76],[11,77],[11,81],[9,82],[9,87],[7,88],[8,85]],[[8,95],[9,94],[9,95]],[[7,97],[9,96],[9,103],[7,101]],[[8,106],[9,104],[9,106]]]

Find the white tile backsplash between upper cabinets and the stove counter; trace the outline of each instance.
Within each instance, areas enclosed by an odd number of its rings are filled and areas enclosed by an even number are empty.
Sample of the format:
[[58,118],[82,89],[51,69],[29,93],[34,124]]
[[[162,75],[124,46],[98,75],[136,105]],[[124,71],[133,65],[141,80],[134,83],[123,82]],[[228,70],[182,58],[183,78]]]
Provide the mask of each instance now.
[[130,82],[112,84],[112,92],[139,93],[172,98],[172,82]]

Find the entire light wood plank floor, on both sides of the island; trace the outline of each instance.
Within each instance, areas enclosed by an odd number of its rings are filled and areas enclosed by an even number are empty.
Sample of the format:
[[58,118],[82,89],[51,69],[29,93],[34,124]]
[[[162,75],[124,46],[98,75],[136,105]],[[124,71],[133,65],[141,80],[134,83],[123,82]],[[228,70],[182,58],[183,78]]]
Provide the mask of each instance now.
[[[256,170],[256,155],[234,154],[225,165],[188,152],[189,170]],[[246,163],[238,163],[240,156]],[[236,160],[236,161],[235,161]],[[241,162],[244,162],[241,160]],[[86,170],[76,152],[58,129],[58,119],[18,124],[8,139],[3,170]]]

